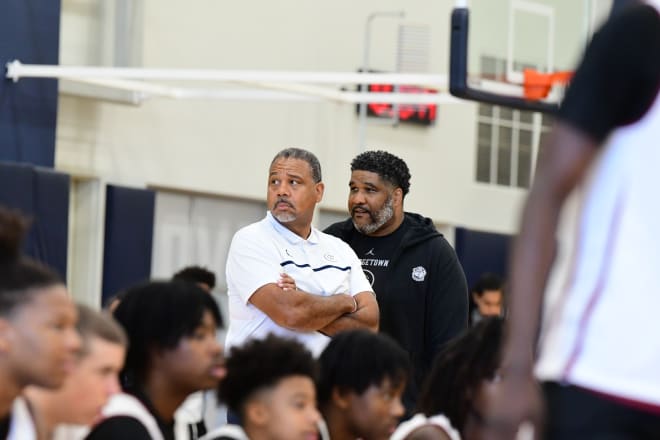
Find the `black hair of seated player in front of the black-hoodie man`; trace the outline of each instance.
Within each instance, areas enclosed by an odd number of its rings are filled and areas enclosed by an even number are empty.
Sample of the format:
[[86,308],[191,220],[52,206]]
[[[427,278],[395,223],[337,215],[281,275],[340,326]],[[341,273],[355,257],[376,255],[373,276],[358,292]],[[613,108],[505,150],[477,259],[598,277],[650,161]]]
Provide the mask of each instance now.
[[332,390],[364,393],[390,379],[394,386],[408,380],[408,354],[389,336],[368,330],[335,335],[321,353],[318,399],[321,406],[332,399]]

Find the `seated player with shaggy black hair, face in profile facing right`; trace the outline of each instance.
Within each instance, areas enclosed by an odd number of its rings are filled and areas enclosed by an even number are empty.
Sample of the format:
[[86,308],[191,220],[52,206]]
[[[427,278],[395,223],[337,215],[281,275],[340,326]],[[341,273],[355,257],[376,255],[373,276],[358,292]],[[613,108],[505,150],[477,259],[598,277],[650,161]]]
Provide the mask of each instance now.
[[176,409],[225,375],[218,306],[192,283],[150,282],[128,289],[115,318],[129,339],[124,392],[110,399],[88,438],[172,440]]

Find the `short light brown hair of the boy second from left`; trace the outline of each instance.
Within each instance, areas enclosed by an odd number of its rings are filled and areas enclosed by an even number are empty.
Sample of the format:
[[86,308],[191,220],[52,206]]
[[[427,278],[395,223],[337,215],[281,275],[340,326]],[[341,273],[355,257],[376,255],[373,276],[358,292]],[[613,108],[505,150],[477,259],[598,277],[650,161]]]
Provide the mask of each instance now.
[[126,332],[115,319],[108,313],[97,312],[83,304],[76,304],[78,309],[78,323],[76,329],[80,333],[82,347],[80,357],[89,354],[90,341],[99,338],[104,341],[126,347],[128,339]]

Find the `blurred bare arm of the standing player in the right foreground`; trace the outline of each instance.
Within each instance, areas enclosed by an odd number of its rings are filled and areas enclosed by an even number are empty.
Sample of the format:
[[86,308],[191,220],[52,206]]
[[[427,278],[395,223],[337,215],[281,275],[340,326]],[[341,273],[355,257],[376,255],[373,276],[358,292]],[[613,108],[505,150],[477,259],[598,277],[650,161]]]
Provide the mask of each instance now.
[[502,379],[486,399],[483,432],[475,438],[508,440],[523,421],[537,427],[540,423],[533,351],[544,287],[555,257],[555,230],[564,200],[584,178],[597,151],[597,142],[588,135],[558,122],[541,152],[510,265]]

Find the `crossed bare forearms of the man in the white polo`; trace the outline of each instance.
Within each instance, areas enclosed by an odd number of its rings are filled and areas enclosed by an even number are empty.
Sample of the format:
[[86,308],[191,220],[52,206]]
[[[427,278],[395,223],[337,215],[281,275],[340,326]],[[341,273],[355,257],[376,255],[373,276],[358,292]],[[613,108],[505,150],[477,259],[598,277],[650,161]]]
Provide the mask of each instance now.
[[378,303],[373,293],[320,296],[291,285],[295,286],[292,280],[263,285],[249,301],[275,323],[292,330],[319,331],[332,336],[342,330],[378,329]]

